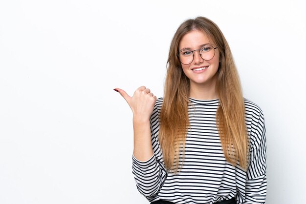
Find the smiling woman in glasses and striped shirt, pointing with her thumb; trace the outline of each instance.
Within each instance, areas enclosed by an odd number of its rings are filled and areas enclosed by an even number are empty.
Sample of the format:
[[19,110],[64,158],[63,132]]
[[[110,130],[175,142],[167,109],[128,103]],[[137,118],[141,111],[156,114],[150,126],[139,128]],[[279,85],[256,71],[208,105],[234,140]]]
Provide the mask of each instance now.
[[227,41],[204,17],[184,21],[171,42],[164,97],[139,87],[132,170],[151,204],[265,202],[262,110],[242,96]]

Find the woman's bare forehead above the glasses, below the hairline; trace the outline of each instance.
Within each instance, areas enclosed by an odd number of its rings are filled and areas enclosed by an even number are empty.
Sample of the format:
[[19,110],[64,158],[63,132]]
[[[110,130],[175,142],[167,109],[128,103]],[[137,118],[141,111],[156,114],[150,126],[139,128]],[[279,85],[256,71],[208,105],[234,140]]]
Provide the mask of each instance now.
[[178,43],[178,49],[191,48],[198,49],[198,46],[203,44],[213,44],[210,36],[204,31],[192,30],[186,33]]

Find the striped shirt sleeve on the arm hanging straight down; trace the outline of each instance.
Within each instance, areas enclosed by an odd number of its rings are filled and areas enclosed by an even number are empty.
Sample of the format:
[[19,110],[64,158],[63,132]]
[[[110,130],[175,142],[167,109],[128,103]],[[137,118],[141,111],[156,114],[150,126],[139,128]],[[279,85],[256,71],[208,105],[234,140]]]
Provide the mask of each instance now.
[[266,198],[266,137],[262,111],[255,132],[251,132],[250,163],[246,172],[245,202],[264,204]]

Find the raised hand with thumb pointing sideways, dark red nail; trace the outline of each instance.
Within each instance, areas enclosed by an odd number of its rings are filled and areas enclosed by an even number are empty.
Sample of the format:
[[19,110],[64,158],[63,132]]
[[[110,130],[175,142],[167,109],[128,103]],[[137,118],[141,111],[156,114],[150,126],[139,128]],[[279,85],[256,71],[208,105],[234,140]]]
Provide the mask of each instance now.
[[132,97],[120,88],[115,88],[114,90],[117,90],[128,102],[133,112],[134,120],[150,120],[156,102],[156,96],[151,93],[150,89],[145,86],[140,86],[136,89]]

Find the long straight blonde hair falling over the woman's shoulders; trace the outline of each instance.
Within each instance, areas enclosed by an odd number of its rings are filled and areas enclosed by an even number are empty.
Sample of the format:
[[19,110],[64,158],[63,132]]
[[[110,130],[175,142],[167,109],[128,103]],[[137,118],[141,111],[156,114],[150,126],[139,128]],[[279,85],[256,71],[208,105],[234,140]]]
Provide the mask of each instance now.
[[186,135],[189,128],[190,81],[184,74],[176,54],[182,37],[193,30],[200,30],[207,34],[218,47],[220,62],[216,91],[219,97],[219,107],[216,122],[219,137],[226,160],[234,166],[239,161],[240,167],[246,169],[249,141],[239,75],[230,47],[219,27],[204,17],[184,21],[176,30],[171,42],[158,136],[165,167],[169,171],[177,172],[181,167],[179,164],[180,152],[184,158]]

